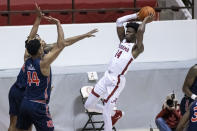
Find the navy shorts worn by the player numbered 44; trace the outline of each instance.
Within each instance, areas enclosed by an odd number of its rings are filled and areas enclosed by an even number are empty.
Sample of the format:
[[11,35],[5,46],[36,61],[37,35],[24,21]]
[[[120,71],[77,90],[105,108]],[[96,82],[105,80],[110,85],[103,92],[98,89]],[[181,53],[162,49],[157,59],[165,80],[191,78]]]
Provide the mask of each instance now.
[[34,124],[36,131],[54,131],[48,104],[23,99],[16,127],[28,130]]

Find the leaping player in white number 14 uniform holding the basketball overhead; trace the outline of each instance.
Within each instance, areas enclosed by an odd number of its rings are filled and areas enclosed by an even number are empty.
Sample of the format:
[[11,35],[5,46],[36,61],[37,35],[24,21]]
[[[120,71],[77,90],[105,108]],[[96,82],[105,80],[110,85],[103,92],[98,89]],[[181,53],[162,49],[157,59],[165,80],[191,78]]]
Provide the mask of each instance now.
[[[122,117],[122,111],[114,110],[116,101],[125,86],[125,74],[128,66],[143,51],[143,35],[145,25],[153,20],[150,14],[141,24],[129,22],[138,18],[138,13],[120,17],[116,21],[117,33],[120,44],[117,53],[111,59],[108,70],[93,88],[89,95],[85,108],[89,112],[103,113],[105,131],[112,131],[112,126]],[[126,33],[123,24],[126,25]],[[100,98],[104,98],[104,106],[99,104]]]

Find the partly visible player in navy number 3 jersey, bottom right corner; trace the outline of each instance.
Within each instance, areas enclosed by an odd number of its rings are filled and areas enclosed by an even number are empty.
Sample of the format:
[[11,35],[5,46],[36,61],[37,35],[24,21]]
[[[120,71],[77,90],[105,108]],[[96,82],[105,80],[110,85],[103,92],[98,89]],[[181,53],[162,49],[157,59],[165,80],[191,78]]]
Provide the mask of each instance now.
[[189,106],[179,121],[176,131],[183,131],[185,127],[187,127],[186,131],[197,131],[197,100]]

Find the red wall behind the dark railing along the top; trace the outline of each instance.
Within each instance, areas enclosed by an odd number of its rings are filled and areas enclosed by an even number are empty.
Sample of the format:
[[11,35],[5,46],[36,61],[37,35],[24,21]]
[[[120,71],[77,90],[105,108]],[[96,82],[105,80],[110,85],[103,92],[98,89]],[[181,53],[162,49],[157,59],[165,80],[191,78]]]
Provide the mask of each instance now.
[[[0,4],[0,10],[7,9],[7,0],[3,0]],[[65,10],[72,9],[72,0],[39,0],[39,6],[42,10]],[[155,7],[156,0],[137,0],[137,7],[152,6]],[[102,9],[102,8],[133,8],[134,3],[131,0],[75,0],[75,9]],[[11,0],[11,11],[34,10],[33,0]],[[132,11],[117,12],[76,12],[74,13],[74,23],[99,23],[113,22],[118,17],[130,14]],[[58,18],[61,23],[72,23],[72,13],[50,13],[49,15]],[[11,25],[32,25],[35,19],[35,14],[11,14]],[[42,21],[41,24],[46,24],[47,21]],[[7,17],[0,16],[0,25],[7,24]]]

